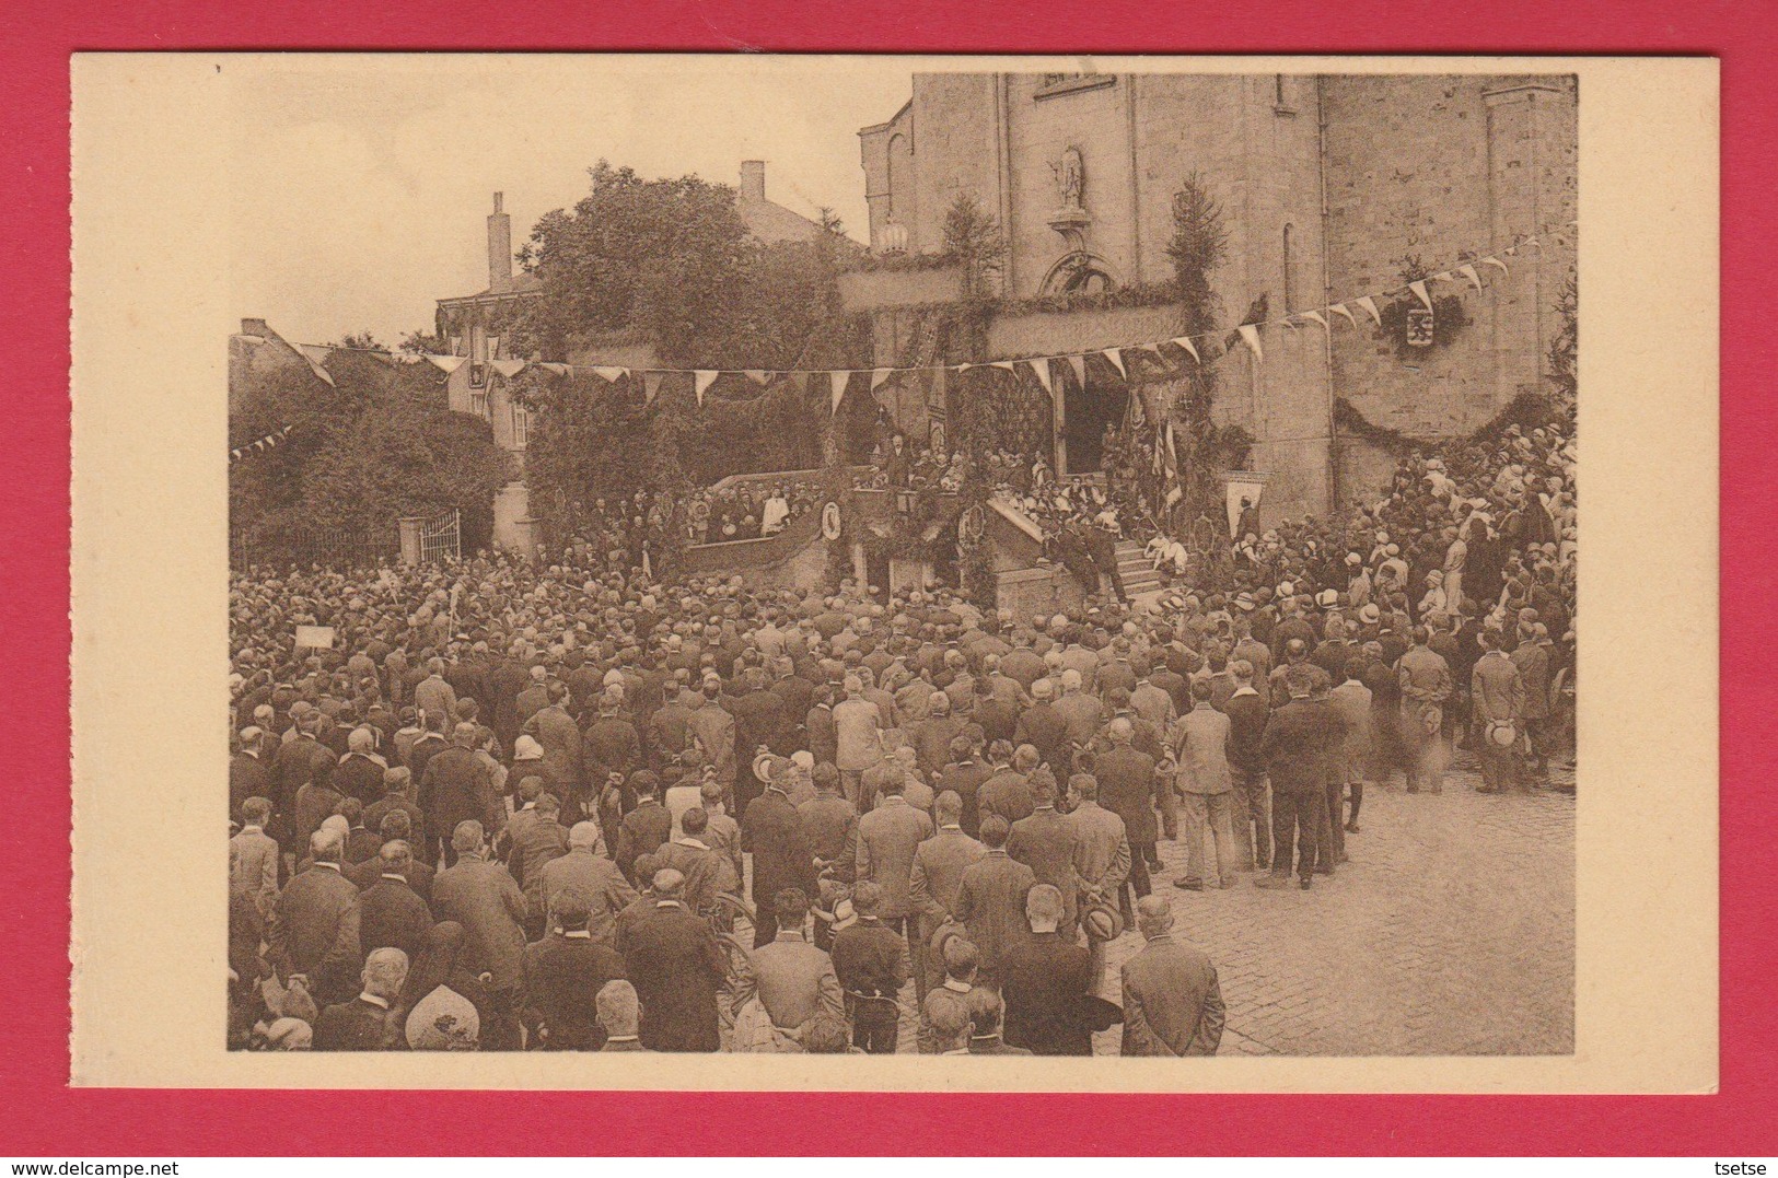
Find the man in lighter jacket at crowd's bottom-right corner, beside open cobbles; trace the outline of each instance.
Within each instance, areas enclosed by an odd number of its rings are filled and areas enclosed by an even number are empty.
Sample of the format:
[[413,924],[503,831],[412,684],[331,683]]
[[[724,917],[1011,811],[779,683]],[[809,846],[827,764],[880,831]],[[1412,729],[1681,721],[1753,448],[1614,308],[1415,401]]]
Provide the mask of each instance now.
[[1149,942],[1124,963],[1124,1055],[1214,1055],[1223,1032],[1216,967],[1173,940],[1173,908],[1163,895],[1136,906]]

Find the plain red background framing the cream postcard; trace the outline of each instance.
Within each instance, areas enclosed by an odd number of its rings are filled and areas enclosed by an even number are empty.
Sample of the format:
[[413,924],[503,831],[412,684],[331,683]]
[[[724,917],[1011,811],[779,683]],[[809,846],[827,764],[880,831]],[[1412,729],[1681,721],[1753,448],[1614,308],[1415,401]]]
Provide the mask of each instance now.
[[[76,11],[78,7],[78,11]],[[14,5],[0,23],[7,398],[0,441],[0,1151],[11,1155],[484,1153],[1774,1153],[1778,872],[1758,716],[1778,501],[1769,407],[1778,217],[1774,9],[1753,2],[976,0],[949,5],[706,0],[583,5],[165,0]],[[299,11],[300,9],[300,11]],[[25,25],[28,12],[28,27]],[[994,1096],[672,1093],[252,1093],[68,1087],[68,55],[76,50],[555,48],[871,52],[1714,53],[1723,62],[1723,801],[1721,1094]],[[25,279],[30,281],[25,281]],[[1673,362],[1687,362],[1673,355]],[[1595,389],[1591,396],[1609,391]],[[1659,812],[1650,823],[1664,821]],[[153,935],[144,929],[144,935]],[[1659,935],[1652,929],[1650,935]],[[1625,961],[1623,968],[1634,968]],[[1661,1011],[1645,1034],[1661,1038]],[[551,1130],[539,1132],[548,1125]],[[581,1132],[560,1126],[583,1125]]]

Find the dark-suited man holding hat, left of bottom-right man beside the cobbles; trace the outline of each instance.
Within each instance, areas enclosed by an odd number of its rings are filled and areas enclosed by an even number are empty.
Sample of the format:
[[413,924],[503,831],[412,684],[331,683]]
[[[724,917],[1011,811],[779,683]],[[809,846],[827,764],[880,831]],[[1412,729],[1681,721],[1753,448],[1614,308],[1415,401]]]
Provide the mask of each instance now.
[[1006,1043],[1033,1055],[1092,1055],[1093,1034],[1083,1018],[1092,991],[1092,954],[1058,933],[1067,894],[1038,883],[1024,901],[1031,936],[1003,965]]

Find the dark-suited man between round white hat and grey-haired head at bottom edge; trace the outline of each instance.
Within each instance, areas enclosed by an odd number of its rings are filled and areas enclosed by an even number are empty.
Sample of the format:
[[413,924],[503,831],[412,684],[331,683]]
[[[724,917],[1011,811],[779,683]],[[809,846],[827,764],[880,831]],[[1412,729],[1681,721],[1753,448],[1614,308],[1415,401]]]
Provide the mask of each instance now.
[[521,1020],[533,1048],[596,1052],[605,1047],[605,1031],[594,1022],[592,1000],[624,975],[624,959],[587,931],[587,895],[567,888],[548,903],[549,935],[525,947]]

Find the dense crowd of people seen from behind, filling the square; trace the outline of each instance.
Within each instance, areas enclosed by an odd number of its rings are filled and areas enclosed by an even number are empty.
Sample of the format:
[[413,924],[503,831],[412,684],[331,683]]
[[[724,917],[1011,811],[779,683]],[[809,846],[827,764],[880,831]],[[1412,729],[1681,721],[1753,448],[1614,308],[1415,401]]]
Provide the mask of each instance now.
[[1568,748],[1572,478],[1556,426],[1415,455],[1143,611],[669,585],[610,535],[249,569],[231,1047],[878,1054],[909,1022],[928,1054],[1118,1023],[1214,1054],[1157,844],[1173,888],[1309,890],[1367,785],[1437,792],[1465,752],[1534,787]]

